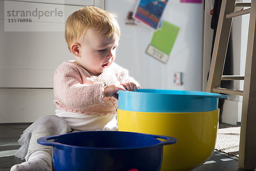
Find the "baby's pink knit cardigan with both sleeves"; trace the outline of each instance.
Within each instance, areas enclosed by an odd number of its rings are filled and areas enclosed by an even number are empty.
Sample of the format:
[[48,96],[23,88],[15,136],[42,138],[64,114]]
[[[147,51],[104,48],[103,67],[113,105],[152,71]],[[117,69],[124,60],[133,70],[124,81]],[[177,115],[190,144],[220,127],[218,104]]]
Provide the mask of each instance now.
[[92,76],[75,61],[64,61],[54,73],[54,103],[58,110],[108,115],[116,113],[116,99],[105,97],[105,85],[134,82],[128,71],[112,63],[99,76]]

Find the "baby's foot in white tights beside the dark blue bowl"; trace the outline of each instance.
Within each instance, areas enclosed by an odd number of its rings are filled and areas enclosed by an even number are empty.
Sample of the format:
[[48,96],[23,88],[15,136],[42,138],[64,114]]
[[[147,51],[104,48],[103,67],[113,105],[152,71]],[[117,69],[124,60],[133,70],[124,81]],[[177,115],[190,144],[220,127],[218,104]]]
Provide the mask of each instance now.
[[12,166],[11,171],[52,171],[52,157],[45,151],[36,151],[27,162]]

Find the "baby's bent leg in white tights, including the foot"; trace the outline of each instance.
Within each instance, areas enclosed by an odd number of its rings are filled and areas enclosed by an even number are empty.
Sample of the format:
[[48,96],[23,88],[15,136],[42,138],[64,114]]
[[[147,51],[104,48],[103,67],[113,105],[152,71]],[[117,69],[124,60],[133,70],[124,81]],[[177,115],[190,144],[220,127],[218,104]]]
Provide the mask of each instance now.
[[37,140],[71,131],[64,119],[55,115],[41,117],[33,124],[26,162],[12,166],[11,171],[52,171],[52,146],[40,145]]

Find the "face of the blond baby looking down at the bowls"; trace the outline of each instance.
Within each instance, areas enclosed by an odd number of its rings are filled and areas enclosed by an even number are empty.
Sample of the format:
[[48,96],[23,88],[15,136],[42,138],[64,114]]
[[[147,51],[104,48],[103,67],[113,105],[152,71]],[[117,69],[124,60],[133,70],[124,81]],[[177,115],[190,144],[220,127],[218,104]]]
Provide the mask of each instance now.
[[76,63],[90,75],[98,76],[114,61],[118,42],[117,35],[108,38],[102,32],[90,30],[90,34],[81,43],[81,58]]

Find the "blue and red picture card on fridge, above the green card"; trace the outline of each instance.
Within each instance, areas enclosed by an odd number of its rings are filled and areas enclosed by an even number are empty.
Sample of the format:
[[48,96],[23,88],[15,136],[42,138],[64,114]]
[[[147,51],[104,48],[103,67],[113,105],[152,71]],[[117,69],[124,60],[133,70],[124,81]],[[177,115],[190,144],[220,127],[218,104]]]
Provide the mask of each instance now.
[[157,29],[168,0],[139,0],[134,11],[134,19]]

